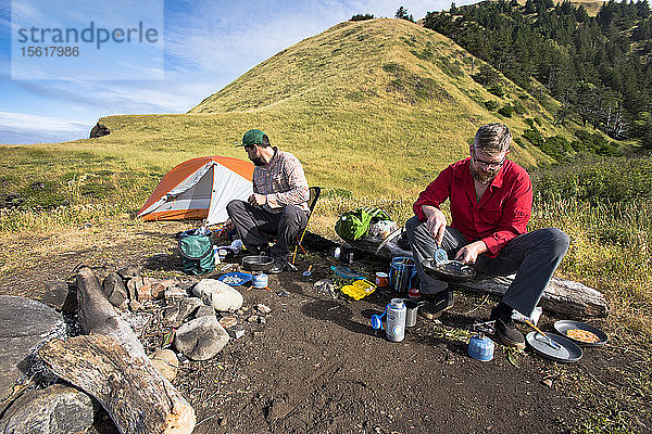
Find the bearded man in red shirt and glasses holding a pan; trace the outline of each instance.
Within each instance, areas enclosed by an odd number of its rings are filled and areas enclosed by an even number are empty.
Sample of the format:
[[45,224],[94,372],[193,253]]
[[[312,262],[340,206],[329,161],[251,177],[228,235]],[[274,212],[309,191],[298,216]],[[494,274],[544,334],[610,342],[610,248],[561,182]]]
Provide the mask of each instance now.
[[[480,127],[469,146],[471,157],[443,169],[414,203],[415,217],[405,224],[421,281],[429,301],[426,318],[452,307],[448,284],[424,272],[422,261],[441,245],[449,257],[474,264],[478,272],[516,278],[491,310],[496,334],[507,346],[525,347],[512,311],[529,316],[568,250],[568,235],[555,228],[527,232],[532,186],[525,169],[506,159],[512,135],[503,124]],[[452,221],[440,209],[450,199]]]

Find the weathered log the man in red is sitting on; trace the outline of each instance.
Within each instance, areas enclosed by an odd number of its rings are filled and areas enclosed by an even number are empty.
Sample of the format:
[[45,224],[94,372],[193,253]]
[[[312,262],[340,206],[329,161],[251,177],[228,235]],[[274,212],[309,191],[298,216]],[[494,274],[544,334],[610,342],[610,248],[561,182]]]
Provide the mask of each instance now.
[[[387,259],[396,256],[412,256],[412,252],[401,248],[397,244],[398,239],[391,240],[378,253]],[[376,250],[383,240],[363,238],[352,242],[354,247],[364,252],[376,254]],[[480,276],[467,283],[456,283],[462,290],[502,295],[507,291],[514,277],[484,277]],[[604,295],[599,291],[582,283],[553,277],[543,295],[540,306],[547,310],[569,317],[606,317],[609,307]]]

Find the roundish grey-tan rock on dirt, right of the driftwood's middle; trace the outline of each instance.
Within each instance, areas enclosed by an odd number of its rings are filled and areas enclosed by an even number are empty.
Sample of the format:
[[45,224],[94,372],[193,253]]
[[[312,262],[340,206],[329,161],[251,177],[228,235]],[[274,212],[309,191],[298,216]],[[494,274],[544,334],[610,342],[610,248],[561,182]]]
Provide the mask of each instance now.
[[228,339],[216,317],[201,317],[179,327],[174,346],[191,360],[208,360],[226,346]]

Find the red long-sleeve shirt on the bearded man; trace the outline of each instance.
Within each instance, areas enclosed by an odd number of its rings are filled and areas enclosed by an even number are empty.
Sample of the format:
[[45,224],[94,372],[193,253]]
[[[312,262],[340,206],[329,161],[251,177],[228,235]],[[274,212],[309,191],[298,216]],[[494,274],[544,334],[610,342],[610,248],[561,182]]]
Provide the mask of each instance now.
[[419,195],[413,205],[419,220],[426,217],[422,205],[439,208],[451,200],[451,227],[469,242],[482,240],[494,257],[513,238],[527,231],[532,210],[532,183],[529,175],[516,163],[504,166],[487,188],[479,203],[471,176],[471,158],[451,164],[443,169]]

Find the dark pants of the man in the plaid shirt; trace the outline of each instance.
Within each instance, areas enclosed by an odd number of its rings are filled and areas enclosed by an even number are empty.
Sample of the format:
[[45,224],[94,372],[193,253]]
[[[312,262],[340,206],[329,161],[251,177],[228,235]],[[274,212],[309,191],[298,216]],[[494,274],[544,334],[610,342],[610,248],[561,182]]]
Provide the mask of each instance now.
[[276,259],[287,260],[288,246],[308,225],[308,214],[294,205],[284,207],[280,213],[269,213],[249,202],[235,200],[226,205],[226,212],[248,250],[260,251],[267,245],[269,237],[276,237],[276,244],[271,248]]

